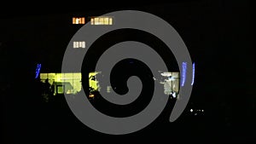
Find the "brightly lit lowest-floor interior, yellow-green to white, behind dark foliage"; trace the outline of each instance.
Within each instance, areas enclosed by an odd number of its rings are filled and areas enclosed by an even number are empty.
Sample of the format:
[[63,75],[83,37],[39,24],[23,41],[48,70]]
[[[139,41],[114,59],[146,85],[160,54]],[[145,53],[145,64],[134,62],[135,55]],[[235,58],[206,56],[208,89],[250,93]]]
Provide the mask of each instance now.
[[[101,90],[101,85],[96,79],[96,75],[101,72],[89,73],[89,86],[92,90]],[[163,84],[165,95],[172,95],[174,98],[179,91],[179,72],[160,72],[160,84]],[[40,81],[45,83],[48,79],[49,84],[54,87],[54,95],[57,94],[77,94],[82,88],[82,75],[80,72],[74,73],[40,73]],[[107,92],[111,92],[111,86],[108,86]]]

